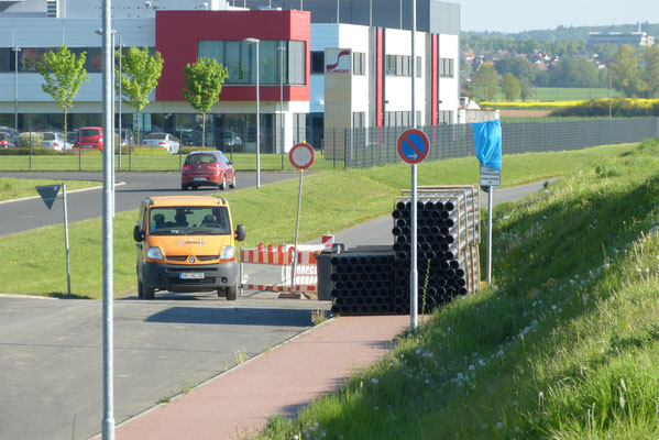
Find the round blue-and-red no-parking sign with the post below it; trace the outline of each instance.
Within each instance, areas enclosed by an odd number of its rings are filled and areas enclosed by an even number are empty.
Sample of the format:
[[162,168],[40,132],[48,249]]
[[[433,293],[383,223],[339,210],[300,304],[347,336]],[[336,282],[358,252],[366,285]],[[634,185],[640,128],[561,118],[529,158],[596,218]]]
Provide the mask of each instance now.
[[396,145],[398,156],[411,165],[411,255],[409,264],[409,327],[416,330],[419,323],[418,271],[417,271],[417,169],[418,163],[428,157],[430,143],[420,130],[405,130]]

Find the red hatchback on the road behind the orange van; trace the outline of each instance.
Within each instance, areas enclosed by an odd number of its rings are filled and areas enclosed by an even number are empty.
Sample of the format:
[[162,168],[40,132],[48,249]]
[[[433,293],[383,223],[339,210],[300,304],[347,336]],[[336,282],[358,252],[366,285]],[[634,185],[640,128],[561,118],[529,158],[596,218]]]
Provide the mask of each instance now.
[[235,169],[221,151],[191,152],[180,170],[180,189],[197,189],[200,186],[218,186],[220,189],[235,188]]

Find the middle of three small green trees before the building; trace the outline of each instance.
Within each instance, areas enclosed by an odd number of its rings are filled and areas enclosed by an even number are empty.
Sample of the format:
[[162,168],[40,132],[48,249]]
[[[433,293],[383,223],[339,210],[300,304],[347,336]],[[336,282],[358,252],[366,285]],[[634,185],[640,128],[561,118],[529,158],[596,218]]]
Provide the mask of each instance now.
[[[119,59],[119,52],[116,56]],[[123,72],[118,75],[121,81],[122,101],[138,111],[138,144],[140,144],[140,112],[149,103],[149,94],[158,85],[163,73],[163,57],[160,52],[149,55],[149,48],[130,47],[123,54]]]

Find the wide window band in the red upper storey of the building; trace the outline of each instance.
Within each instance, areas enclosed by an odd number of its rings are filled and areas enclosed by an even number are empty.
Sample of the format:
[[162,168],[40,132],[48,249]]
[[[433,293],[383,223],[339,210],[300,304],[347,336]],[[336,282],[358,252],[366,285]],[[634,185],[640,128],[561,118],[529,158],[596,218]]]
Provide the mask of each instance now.
[[[279,46],[286,47],[283,56]],[[197,44],[198,57],[215,58],[227,67],[227,85],[256,84],[256,47],[242,41],[200,41]],[[283,57],[283,64],[279,57]],[[300,41],[261,41],[259,43],[259,82],[278,85],[304,85],[305,42]]]

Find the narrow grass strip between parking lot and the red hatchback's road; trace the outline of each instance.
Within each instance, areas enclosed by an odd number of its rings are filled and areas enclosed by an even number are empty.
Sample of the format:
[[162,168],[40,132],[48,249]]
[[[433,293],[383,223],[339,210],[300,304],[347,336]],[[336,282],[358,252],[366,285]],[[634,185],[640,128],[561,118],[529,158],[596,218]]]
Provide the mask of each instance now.
[[[176,155],[164,154],[162,148],[157,152],[146,151],[145,147],[138,150],[140,154],[129,154],[122,152],[121,155],[121,170],[133,170],[133,172],[178,172],[180,165],[185,161],[186,151],[193,150],[186,147],[180,160]],[[149,148],[153,150],[153,148]],[[195,148],[196,151],[208,150],[208,148]],[[226,152],[227,157],[231,155]],[[261,170],[295,170],[296,168],[290,165],[288,155],[285,154],[261,154]],[[57,155],[33,155],[32,162],[29,155],[3,155],[0,156],[0,170],[3,172],[22,172],[22,170],[40,170],[40,172],[100,172],[102,170],[102,154],[100,152],[85,152],[81,155],[76,152]],[[282,166],[282,162],[284,166]],[[119,170],[119,157],[114,160],[116,169]],[[337,162],[325,160],[321,152],[316,153],[316,162],[309,168],[310,170],[322,170],[332,169],[332,167],[343,168],[343,162]],[[233,154],[233,167],[237,170],[255,170],[256,169],[256,154],[255,153],[234,153]]]

